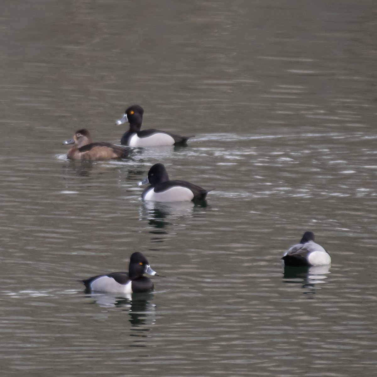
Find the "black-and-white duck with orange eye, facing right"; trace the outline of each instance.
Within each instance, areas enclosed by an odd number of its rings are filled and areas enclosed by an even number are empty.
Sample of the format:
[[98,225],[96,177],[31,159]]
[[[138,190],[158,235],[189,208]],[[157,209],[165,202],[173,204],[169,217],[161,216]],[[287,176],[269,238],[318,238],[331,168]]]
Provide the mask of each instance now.
[[106,293],[145,293],[154,289],[154,284],[145,273],[157,275],[143,253],[136,251],[130,256],[128,272],[112,272],[79,280],[86,290]]

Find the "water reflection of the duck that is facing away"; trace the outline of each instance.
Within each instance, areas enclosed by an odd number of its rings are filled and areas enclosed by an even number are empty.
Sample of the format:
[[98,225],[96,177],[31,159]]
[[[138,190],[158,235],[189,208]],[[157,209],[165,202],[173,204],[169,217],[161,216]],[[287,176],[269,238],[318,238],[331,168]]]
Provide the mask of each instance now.
[[301,284],[303,289],[309,289],[304,294],[314,294],[319,284],[326,283],[331,265],[291,267],[284,266],[283,282]]

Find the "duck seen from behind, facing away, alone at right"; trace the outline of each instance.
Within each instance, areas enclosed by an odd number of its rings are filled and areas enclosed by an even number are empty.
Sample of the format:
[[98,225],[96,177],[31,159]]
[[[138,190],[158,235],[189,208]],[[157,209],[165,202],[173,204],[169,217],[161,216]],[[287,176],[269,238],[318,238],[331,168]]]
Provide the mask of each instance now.
[[291,246],[285,251],[282,260],[285,266],[322,266],[331,263],[327,251],[314,242],[314,233],[307,231],[303,234],[299,244]]

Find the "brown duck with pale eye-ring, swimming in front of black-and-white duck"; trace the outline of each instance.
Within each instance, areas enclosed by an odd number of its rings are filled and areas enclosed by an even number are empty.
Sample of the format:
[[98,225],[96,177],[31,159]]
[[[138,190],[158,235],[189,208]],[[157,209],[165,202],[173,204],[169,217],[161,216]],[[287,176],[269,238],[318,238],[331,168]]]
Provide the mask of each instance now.
[[129,155],[129,150],[124,147],[104,141],[93,143],[89,131],[85,128],[76,131],[73,138],[63,141],[63,144],[75,144],[67,153],[67,158],[71,160],[109,160]]

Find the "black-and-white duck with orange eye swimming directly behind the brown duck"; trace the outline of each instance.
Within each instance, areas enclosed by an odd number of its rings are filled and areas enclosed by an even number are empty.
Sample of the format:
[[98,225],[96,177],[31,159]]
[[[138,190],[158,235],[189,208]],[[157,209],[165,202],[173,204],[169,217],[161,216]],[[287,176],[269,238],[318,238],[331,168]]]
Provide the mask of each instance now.
[[189,138],[193,136],[181,136],[175,133],[150,129],[142,130],[141,123],[143,122],[144,109],[139,105],[132,105],[127,107],[121,119],[117,120],[115,124],[118,126],[126,122],[130,123],[129,130],[124,133],[120,143],[129,147],[150,147],[173,144],[185,144]]

